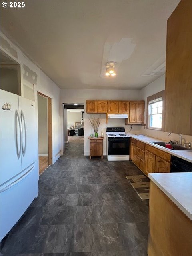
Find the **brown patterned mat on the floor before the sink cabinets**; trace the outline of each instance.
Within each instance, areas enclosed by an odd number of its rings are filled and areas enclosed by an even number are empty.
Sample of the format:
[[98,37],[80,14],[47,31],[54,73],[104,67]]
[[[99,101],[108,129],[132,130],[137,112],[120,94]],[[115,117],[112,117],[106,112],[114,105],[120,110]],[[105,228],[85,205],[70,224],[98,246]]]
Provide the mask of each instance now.
[[142,200],[149,199],[149,179],[144,175],[126,176]]

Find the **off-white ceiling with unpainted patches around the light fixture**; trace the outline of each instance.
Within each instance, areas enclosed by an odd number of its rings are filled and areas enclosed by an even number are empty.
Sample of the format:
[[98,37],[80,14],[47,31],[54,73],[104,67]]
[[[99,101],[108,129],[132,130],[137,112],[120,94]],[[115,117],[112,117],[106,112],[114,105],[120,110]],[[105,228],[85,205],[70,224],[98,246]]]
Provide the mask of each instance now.
[[[26,0],[1,7],[0,27],[60,88],[138,89],[164,74],[166,21],[179,2]],[[107,61],[116,77],[104,76]]]

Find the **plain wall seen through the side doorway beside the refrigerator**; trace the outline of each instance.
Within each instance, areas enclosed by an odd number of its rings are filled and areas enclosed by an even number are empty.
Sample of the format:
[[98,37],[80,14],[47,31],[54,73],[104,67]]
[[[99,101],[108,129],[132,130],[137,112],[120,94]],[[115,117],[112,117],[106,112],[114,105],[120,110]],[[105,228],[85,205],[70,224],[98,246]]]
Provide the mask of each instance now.
[[38,145],[39,155],[48,156],[47,98],[38,94]]

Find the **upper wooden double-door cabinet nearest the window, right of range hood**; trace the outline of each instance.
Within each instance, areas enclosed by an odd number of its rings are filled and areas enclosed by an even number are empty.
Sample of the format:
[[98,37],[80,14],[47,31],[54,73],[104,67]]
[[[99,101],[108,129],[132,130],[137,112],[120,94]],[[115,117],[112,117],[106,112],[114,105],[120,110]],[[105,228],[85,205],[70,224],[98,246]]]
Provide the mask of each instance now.
[[145,102],[144,101],[130,102],[129,122],[128,123],[143,124],[144,123],[144,110],[145,110]]

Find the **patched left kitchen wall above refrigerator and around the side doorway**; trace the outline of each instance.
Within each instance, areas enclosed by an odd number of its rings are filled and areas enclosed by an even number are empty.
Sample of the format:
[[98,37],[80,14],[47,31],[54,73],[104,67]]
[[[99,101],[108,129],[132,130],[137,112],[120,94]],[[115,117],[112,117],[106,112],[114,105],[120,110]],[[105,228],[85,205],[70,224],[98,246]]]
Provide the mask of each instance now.
[[[63,153],[62,148],[62,105],[60,104],[60,88],[48,77],[40,68],[38,68],[25,54],[13,44],[1,31],[0,36],[4,38],[4,42],[1,43],[0,49],[8,54],[12,59],[21,65],[21,95],[26,98],[33,96],[33,84],[34,84],[34,96],[36,106],[36,133],[38,123],[37,112],[37,91],[52,98],[52,144],[53,144],[53,163]],[[6,43],[5,43],[6,42]],[[12,53],[14,52],[14,56]],[[26,88],[28,88],[26,90]],[[36,134],[36,145],[38,154],[38,136]]]

